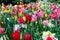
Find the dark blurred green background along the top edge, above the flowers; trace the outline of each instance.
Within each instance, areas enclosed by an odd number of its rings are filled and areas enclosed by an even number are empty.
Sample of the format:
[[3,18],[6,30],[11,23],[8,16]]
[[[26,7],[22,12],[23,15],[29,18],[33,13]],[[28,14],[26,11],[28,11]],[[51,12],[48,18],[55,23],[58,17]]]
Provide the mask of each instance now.
[[[38,1],[38,0],[0,0],[0,4],[1,3],[4,3],[4,4],[17,4],[17,2],[20,2],[20,1],[22,1],[23,3],[30,3],[30,2],[36,2],[36,1]],[[49,1],[49,2],[55,2],[55,3],[58,3],[58,4],[60,4],[60,0],[47,0],[47,1]]]

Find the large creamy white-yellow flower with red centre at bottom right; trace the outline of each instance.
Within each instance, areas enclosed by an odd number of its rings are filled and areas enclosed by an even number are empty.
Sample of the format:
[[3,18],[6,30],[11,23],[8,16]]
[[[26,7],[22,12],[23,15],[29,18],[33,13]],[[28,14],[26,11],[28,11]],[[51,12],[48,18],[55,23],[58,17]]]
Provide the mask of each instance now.
[[43,40],[57,40],[55,33],[51,33],[50,31],[43,32],[42,38]]

